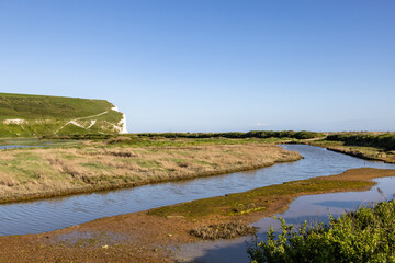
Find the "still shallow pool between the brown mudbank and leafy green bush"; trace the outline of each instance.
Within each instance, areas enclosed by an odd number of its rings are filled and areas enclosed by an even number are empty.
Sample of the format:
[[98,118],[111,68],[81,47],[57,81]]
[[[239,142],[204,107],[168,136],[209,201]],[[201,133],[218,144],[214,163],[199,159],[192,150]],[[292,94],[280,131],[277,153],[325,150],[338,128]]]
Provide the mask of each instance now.
[[[306,195],[297,197],[290,208],[275,216],[282,217],[287,224],[296,227],[305,220],[309,225],[319,221],[328,222],[328,215],[339,217],[343,213],[356,210],[363,205],[372,205],[381,201],[393,199],[395,193],[395,178],[383,178],[374,180],[379,184],[365,192],[346,192],[320,195]],[[263,218],[252,226],[259,228],[258,237],[266,239],[266,232],[272,226],[274,231],[280,231],[279,220]],[[205,262],[205,263],[240,263],[249,262],[247,255],[247,244],[251,242],[251,237],[242,237],[232,241],[205,241],[187,244],[177,252],[180,262]]]

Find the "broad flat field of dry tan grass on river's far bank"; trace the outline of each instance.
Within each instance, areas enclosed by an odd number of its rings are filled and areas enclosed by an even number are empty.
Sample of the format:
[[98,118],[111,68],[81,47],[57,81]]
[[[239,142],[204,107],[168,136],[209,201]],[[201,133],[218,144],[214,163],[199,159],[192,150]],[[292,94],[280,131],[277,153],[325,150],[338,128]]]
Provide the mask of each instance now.
[[2,150],[0,202],[215,175],[300,158],[297,152],[263,144]]

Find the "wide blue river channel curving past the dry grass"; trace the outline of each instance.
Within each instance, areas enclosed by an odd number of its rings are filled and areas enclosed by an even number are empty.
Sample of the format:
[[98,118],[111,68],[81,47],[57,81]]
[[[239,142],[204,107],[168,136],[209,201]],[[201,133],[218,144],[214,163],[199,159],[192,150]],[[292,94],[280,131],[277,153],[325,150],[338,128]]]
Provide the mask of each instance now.
[[395,169],[306,145],[284,145],[304,159],[249,172],[230,173],[133,188],[0,205],[0,235],[52,231],[101,217],[146,210],[198,198],[244,192],[287,181],[338,174],[351,168]]

